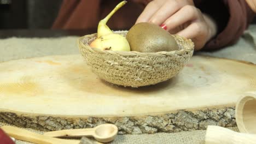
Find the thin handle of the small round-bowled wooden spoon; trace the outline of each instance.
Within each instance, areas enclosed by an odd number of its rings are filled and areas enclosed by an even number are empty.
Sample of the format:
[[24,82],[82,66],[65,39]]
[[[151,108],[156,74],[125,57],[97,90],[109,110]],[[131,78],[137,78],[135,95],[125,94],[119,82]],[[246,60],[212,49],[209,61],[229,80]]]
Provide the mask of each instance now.
[[92,136],[94,135],[94,128],[88,129],[65,129],[57,131],[49,131],[44,133],[46,136],[50,137],[82,137],[82,136]]

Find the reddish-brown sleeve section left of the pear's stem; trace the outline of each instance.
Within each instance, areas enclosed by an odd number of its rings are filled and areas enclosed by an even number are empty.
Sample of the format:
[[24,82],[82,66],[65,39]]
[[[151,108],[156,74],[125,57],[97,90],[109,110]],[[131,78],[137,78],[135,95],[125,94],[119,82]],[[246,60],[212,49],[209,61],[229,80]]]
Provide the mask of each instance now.
[[53,29],[85,29],[95,27],[100,18],[100,0],[63,0]]

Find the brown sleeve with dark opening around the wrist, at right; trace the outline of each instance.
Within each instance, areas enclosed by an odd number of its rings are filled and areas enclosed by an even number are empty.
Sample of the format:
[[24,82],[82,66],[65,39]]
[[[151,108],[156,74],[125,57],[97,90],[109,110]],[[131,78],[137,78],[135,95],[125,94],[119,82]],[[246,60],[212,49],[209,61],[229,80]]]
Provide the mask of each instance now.
[[202,13],[217,22],[218,33],[202,50],[216,50],[235,44],[253,20],[254,12],[245,0],[194,0]]

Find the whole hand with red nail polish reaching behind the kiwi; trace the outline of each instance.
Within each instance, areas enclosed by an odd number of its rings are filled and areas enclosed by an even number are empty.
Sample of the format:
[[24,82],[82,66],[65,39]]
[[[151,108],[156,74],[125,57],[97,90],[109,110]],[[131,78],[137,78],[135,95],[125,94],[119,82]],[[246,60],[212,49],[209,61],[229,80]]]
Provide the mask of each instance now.
[[171,34],[193,40],[200,50],[217,33],[216,23],[202,14],[193,0],[154,0],[138,17],[136,23],[152,22],[164,26]]

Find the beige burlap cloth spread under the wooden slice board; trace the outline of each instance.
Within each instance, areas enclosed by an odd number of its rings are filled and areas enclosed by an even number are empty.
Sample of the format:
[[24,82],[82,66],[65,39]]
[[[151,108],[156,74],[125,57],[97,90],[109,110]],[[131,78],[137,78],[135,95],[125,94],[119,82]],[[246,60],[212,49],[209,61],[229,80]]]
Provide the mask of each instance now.
[[[0,39],[0,62],[11,59],[31,58],[49,55],[79,54],[78,37],[62,38],[8,38]],[[207,55],[248,61],[256,64],[256,26],[252,25],[237,44],[214,52],[197,52]],[[1,103],[0,103],[1,104]],[[4,123],[0,123],[4,125]],[[230,128],[238,131],[236,127]],[[36,131],[33,129],[28,129]],[[42,131],[36,131],[42,133]],[[184,131],[181,133],[158,133],[142,135],[118,135],[112,143],[204,143],[205,130]],[[0,142],[1,143],[1,142]],[[17,141],[16,143],[26,143]]]

